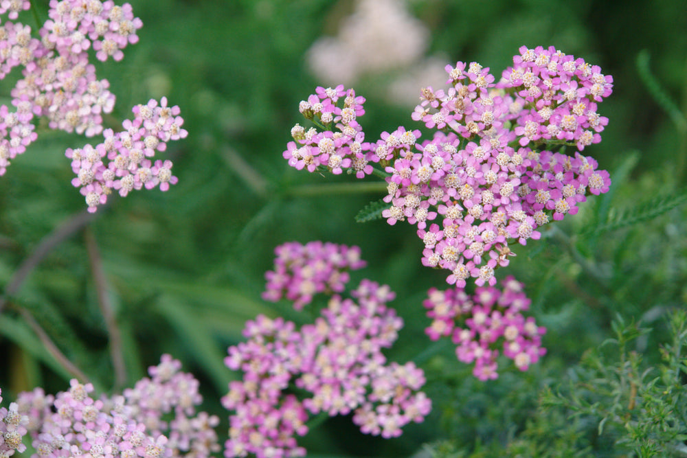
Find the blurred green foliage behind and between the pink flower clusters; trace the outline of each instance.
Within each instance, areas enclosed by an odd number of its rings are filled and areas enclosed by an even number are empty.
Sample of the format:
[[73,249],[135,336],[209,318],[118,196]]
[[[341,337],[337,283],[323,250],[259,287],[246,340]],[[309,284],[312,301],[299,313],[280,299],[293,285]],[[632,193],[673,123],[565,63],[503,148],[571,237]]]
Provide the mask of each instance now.
[[[47,1],[38,3],[45,12]],[[300,440],[313,456],[407,456],[425,442],[446,438],[465,450],[505,444],[523,429],[539,389],[563,380],[585,350],[609,337],[616,314],[662,330],[664,312],[684,307],[687,218],[678,205],[685,200],[680,167],[687,154],[684,1],[407,3],[431,32],[427,54],[446,56],[446,63],[476,60],[498,77],[521,45],[554,45],[614,78],[613,95],[599,109],[610,119],[603,141],[585,150],[611,172],[611,192],[589,198],[580,214],[557,222],[543,240],[518,247],[508,269],[497,273],[525,282],[532,314],[548,328],[548,354],[525,374],[504,371],[489,383],[471,377],[450,343],[436,346],[425,338],[429,320],[421,302],[431,286],[444,287],[446,274],[420,264],[422,244],[412,227],[354,222],[359,209],[383,193],[343,186],[359,184],[348,176],[297,172],[282,159],[289,130],[304,123],[298,102],[322,84],[308,71],[306,51],[317,38],[337,34],[354,2],[131,4],[144,22],[139,43],[126,49],[122,62],[97,64],[100,78],[107,78],[117,95],[106,123],[120,126],[131,106],[150,98],[166,95],[179,105],[189,135],[165,153],[174,160],[179,184],[166,193],[113,199],[86,231],[58,244],[14,295],[100,389],[113,389],[113,367],[89,237],[98,247],[122,330],[128,384],[170,353],[201,380],[205,409],[225,422],[218,398],[236,374],[223,366],[223,356],[228,345],[240,341],[245,321],[258,313],[298,323],[311,319],[288,304],[260,299],[274,247],[289,240],[361,247],[368,268],[354,273],[354,280],[367,277],[392,286],[393,304],[406,320],[388,356],[414,358],[425,367],[427,392],[438,407],[425,424],[409,426],[391,441],[357,433],[350,419],[328,420]],[[30,14],[21,19],[36,27]],[[644,69],[651,69],[675,106],[662,104],[643,82],[649,78],[638,71],[643,50]],[[363,76],[354,85],[368,100],[361,119],[368,140],[398,125],[419,127],[409,117],[412,106],[390,104],[382,94],[404,71]],[[0,82],[5,104],[12,81]],[[0,178],[3,285],[41,240],[85,209],[69,183],[64,151],[87,140],[42,125],[38,133],[38,141]],[[633,214],[637,217],[627,224],[594,233]],[[638,342],[648,360],[657,358],[655,339],[661,336],[655,332]],[[50,362],[16,308],[0,315],[0,355],[5,398],[35,386],[51,392],[67,387],[67,376]]]

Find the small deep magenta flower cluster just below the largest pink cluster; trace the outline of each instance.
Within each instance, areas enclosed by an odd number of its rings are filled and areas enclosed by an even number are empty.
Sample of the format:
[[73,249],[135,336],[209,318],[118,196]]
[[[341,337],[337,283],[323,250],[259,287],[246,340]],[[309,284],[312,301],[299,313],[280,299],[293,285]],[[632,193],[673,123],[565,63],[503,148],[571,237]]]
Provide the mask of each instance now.
[[475,363],[473,374],[480,380],[497,378],[499,347],[521,371],[546,352],[541,347],[545,328],[537,326],[533,318],[523,317],[522,312],[530,306],[523,285],[513,277],[506,277],[503,283],[503,290],[482,286],[471,296],[462,288],[432,288],[423,303],[432,319],[425,330],[429,339],[451,336],[458,359]]

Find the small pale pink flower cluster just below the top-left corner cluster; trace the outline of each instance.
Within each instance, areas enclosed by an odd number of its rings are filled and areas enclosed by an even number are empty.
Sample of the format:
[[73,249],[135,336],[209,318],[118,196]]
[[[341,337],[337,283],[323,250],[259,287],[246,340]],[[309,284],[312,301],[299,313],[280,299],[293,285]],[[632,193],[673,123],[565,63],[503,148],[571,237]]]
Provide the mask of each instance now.
[[156,151],[166,150],[168,141],[188,135],[181,128],[179,107],[167,106],[167,98],[163,97],[159,106],[156,100],[150,100],[132,111],[135,117],[122,123],[122,132],[107,129],[102,144],[68,148],[65,153],[76,173],[71,184],[80,187],[91,213],[107,201],[113,189],[124,197],[143,187],[150,190],[159,186],[166,191],[179,181],[172,175],[172,161],[151,160]]

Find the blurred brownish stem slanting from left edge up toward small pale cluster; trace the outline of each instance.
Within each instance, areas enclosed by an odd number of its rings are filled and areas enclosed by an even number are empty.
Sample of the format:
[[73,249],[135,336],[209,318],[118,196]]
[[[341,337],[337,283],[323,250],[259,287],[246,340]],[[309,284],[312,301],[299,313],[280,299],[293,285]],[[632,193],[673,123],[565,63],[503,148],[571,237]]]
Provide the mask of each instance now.
[[12,275],[12,278],[10,278],[7,286],[5,286],[5,291],[0,297],[0,313],[7,301],[6,298],[19,293],[21,286],[32,271],[34,271],[34,268],[36,268],[38,264],[41,264],[45,257],[47,257],[55,247],[85,227],[93,217],[94,214],[88,213],[87,211],[74,214],[38,243],[38,247],[36,247],[29,257],[23,260],[19,268],[16,269]]

